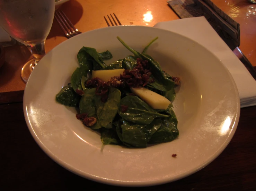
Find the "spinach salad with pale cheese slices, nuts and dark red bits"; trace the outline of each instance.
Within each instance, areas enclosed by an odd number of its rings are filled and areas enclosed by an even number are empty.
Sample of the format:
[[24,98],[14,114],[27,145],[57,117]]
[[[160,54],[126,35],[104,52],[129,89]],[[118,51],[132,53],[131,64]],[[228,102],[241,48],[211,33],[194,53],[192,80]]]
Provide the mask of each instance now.
[[56,94],[56,101],[79,108],[77,119],[100,132],[104,144],[147,147],[176,139],[178,122],[171,102],[179,78],[145,53],[157,38],[142,53],[117,39],[133,55],[107,66],[104,60],[112,58],[111,52],[82,47],[77,54],[80,67]]

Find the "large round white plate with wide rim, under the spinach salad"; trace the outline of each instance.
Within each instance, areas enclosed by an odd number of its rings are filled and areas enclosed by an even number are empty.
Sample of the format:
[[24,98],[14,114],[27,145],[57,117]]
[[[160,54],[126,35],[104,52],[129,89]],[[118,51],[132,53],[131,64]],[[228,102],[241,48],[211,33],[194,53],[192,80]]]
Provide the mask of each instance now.
[[[76,55],[82,46],[111,51],[108,63],[131,54],[117,36],[138,51],[159,37],[147,53],[181,78],[173,102],[180,132],[176,140],[144,149],[103,146],[100,135],[76,119],[74,108],[55,102],[79,66]],[[24,114],[38,145],[64,168],[102,183],[145,186],[186,177],[214,160],[235,133],[240,102],[228,70],[200,44],[162,29],[118,26],[82,33],[47,53],[26,85]]]

